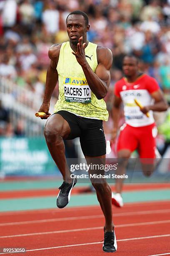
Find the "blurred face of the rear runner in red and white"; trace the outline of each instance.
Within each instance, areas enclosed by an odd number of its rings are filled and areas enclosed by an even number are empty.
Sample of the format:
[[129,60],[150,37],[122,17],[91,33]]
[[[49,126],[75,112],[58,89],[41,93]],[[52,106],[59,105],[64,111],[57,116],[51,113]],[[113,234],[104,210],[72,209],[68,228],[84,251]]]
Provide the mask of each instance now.
[[133,57],[123,59],[123,72],[125,76],[132,77],[138,72],[138,62]]

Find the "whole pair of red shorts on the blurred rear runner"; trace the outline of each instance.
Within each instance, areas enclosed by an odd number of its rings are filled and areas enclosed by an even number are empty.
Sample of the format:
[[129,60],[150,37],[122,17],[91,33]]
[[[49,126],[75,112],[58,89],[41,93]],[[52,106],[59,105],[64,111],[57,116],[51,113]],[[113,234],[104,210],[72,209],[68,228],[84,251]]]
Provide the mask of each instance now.
[[155,123],[142,127],[122,125],[117,142],[117,151],[138,149],[140,158],[155,158],[157,128]]

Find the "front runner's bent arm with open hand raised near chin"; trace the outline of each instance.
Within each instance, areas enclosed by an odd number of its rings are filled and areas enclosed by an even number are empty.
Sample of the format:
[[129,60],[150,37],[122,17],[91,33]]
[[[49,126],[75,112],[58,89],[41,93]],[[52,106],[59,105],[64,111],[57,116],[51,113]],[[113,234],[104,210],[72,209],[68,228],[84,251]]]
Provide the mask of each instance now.
[[98,65],[94,73],[85,59],[84,47],[85,44],[82,44],[82,37],[80,37],[79,43],[77,44],[77,52],[72,52],[72,54],[75,55],[77,62],[81,65],[90,89],[97,99],[100,100],[106,96],[110,84],[112,52],[107,48],[97,48]]

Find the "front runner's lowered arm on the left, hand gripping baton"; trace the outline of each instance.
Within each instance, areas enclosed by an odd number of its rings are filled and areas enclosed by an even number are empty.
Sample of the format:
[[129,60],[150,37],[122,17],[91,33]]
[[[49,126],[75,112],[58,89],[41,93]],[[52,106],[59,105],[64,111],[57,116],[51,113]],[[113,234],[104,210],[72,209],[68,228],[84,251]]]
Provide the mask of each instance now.
[[50,58],[50,66],[47,69],[47,77],[45,83],[45,92],[42,101],[42,105],[40,106],[39,112],[44,111],[47,115],[43,119],[47,119],[50,116],[49,108],[50,108],[50,99],[52,96],[52,92],[58,81],[58,72],[57,72],[57,63],[60,54],[61,45],[53,45],[50,47],[48,51],[48,56]]

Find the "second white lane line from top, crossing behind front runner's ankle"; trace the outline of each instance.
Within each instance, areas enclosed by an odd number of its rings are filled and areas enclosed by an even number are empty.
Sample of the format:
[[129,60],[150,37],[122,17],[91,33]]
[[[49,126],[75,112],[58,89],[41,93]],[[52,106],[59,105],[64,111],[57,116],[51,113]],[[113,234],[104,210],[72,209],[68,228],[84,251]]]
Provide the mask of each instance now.
[[[141,223],[128,223],[128,224],[116,225],[115,227],[116,228],[125,228],[125,227],[155,225],[155,224],[165,224],[165,223],[170,223],[170,220],[149,221],[149,222],[141,222]],[[18,234],[18,235],[10,235],[10,236],[0,236],[0,238],[49,235],[49,234],[57,234],[57,233],[69,233],[69,232],[98,230],[98,229],[103,229],[103,226],[102,227],[94,227],[94,228],[76,228],[76,229],[68,229],[68,230],[56,230],[56,231],[47,231],[47,232],[39,232],[39,233],[28,233],[28,234]]]

